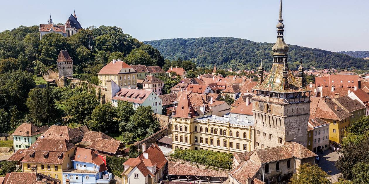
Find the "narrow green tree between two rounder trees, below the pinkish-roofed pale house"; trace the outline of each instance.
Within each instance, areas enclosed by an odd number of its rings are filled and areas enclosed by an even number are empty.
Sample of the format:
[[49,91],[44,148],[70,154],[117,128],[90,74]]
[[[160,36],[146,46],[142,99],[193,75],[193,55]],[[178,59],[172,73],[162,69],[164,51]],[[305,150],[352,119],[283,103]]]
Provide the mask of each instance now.
[[[127,125],[130,117],[135,113],[133,106],[128,101],[119,101],[117,107],[117,121],[119,123],[119,131],[125,132],[125,126]],[[124,136],[123,136],[124,137]]]

